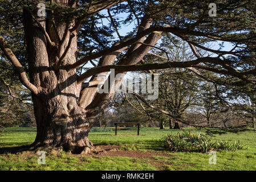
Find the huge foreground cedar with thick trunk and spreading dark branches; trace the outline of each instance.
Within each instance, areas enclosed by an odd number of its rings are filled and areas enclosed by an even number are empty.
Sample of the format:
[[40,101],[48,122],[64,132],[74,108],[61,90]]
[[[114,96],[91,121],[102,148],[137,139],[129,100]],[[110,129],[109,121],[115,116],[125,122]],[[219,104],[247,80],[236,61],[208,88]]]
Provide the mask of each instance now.
[[[46,5],[45,15],[43,6],[38,6],[42,2]],[[234,76],[255,84],[255,2],[216,1],[217,14],[209,16],[211,2],[1,1],[1,56],[13,64],[21,83],[31,90],[34,104],[37,134],[35,142],[25,149],[51,146],[72,152],[90,151],[93,146],[88,133],[92,123],[115,95],[98,93],[96,85],[108,82],[109,91],[115,90],[128,71],[190,68],[204,76],[201,71],[205,69],[222,79]],[[107,15],[101,13],[105,9]],[[118,19],[120,13],[127,18]],[[108,19],[111,26],[104,26],[103,19]],[[121,35],[121,24],[133,20],[135,30]],[[112,35],[113,31],[120,40]],[[185,40],[197,58],[139,64],[161,36]],[[233,48],[209,48],[209,42],[228,42]],[[18,46],[21,50],[17,50]],[[202,57],[197,49],[214,55]],[[97,59],[94,68],[77,74],[77,68]],[[107,73],[111,68],[115,75],[123,76],[110,79]]]

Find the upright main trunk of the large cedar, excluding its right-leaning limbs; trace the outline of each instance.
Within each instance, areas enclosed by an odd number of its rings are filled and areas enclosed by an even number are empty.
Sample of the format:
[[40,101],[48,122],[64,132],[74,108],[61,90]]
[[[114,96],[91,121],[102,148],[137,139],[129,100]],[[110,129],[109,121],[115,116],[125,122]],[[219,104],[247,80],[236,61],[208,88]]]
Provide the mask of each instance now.
[[[81,86],[76,83],[76,70],[54,71],[58,52],[47,44],[43,32],[26,10],[24,24],[30,81],[42,88],[40,94],[32,94],[37,125],[33,144],[63,147],[63,150],[74,153],[88,152],[88,148],[93,148],[88,140],[91,123],[86,118],[86,111],[78,105]],[[51,39],[58,42],[51,24],[46,21],[41,24],[48,30]],[[64,48],[67,47],[71,35],[68,31],[68,39],[64,39],[66,26],[68,23],[63,22],[57,27],[58,36],[64,40]],[[63,54],[64,49],[60,51]],[[75,63],[76,51],[76,38],[73,38],[63,64]]]

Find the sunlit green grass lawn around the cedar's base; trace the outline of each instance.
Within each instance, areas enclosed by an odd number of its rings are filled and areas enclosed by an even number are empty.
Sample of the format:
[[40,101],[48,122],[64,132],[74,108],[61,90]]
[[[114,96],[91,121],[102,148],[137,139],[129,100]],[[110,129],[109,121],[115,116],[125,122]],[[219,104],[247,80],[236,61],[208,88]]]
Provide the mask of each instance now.
[[[182,129],[205,133],[205,129]],[[209,154],[169,152],[162,149],[161,138],[180,130],[142,128],[136,130],[90,132],[95,146],[116,146],[118,150],[98,155],[72,155],[68,152],[46,154],[46,164],[38,164],[35,152],[0,155],[0,170],[256,170],[256,130],[216,134],[214,140],[239,142],[247,149],[217,152],[217,164],[209,164]],[[13,127],[0,133],[0,147],[30,144],[35,128]]]

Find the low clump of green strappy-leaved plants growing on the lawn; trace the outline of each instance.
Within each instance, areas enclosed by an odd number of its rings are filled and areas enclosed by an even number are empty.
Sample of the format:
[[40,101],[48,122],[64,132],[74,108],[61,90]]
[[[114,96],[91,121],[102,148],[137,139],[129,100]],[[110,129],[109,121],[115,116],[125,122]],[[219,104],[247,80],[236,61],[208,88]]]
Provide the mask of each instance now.
[[214,141],[203,134],[184,131],[177,134],[168,134],[162,138],[165,150],[176,152],[209,152],[209,151],[236,151],[246,148],[238,142],[230,143]]

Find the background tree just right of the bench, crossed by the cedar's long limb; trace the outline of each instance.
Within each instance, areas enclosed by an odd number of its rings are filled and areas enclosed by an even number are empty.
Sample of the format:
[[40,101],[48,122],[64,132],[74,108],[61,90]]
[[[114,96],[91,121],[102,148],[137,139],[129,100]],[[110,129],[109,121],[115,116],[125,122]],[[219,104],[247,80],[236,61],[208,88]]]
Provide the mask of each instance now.
[[[160,43],[161,48],[153,48],[149,55],[145,57],[147,62],[156,61],[164,63],[170,59],[176,62],[190,61],[194,59],[193,52],[189,49],[189,44],[174,39],[175,43],[170,41],[169,37],[163,38]],[[200,77],[193,74],[190,69],[172,68],[168,70],[154,71],[160,76],[159,79],[159,97],[156,101],[147,101],[161,110],[167,111],[172,117],[166,117],[161,111],[155,111],[151,117],[159,120],[160,129],[164,129],[164,122],[169,122],[170,129],[181,129],[180,122],[182,115],[198,100],[198,87],[200,86]],[[152,112],[149,107],[148,112]],[[188,123],[188,121],[186,121]]]

